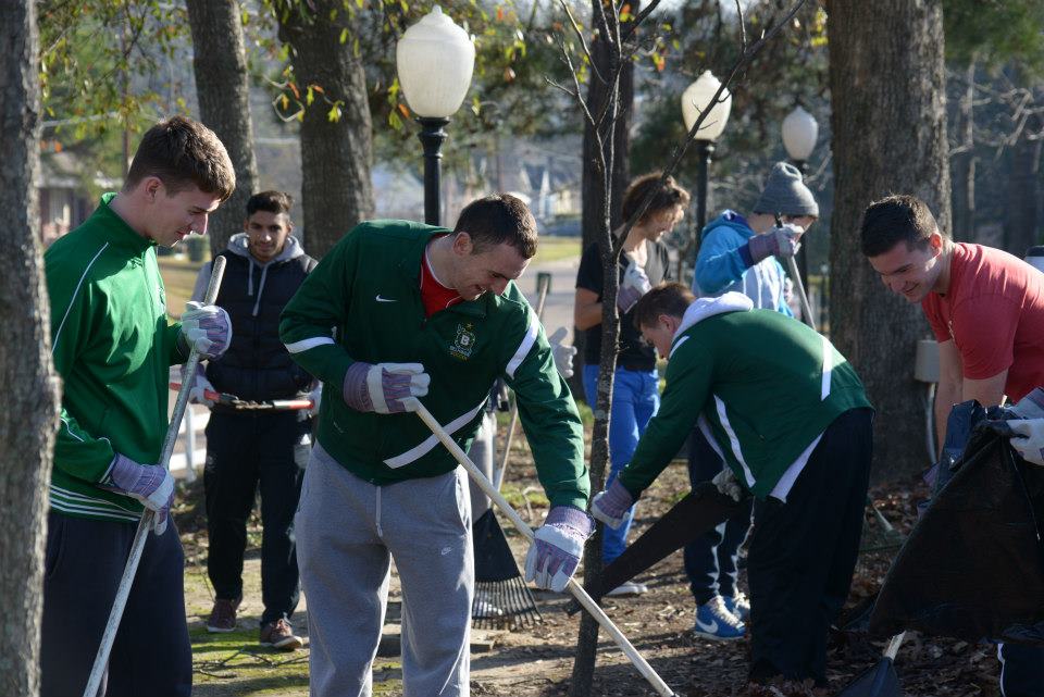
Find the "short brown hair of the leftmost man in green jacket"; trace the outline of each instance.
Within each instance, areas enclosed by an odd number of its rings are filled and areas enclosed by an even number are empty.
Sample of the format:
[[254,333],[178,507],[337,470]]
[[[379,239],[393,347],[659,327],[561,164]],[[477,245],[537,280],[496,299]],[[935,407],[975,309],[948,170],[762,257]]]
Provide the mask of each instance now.
[[203,124],[174,116],[149,128],[134,153],[123,190],[154,176],[169,195],[196,185],[200,191],[228,200],[236,188],[236,171],[214,132]]

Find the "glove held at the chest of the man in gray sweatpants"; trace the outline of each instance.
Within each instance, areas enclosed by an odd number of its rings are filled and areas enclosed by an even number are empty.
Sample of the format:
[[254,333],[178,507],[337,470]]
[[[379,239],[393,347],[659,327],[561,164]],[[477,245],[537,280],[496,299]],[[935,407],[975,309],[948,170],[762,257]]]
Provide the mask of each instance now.
[[427,394],[431,375],[420,363],[363,363],[356,361],[345,373],[345,403],[356,411],[395,414],[412,411],[410,397]]

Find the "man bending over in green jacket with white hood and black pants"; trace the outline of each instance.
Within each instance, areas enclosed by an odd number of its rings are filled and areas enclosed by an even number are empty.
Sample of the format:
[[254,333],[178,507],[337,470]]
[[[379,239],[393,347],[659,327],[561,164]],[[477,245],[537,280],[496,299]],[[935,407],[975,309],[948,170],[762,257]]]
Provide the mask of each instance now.
[[859,550],[873,410],[845,358],[800,322],[754,310],[738,293],[695,299],[654,288],[635,324],[669,357],[660,411],[631,463],[594,498],[616,525],[698,423],[728,468],[736,500],[754,494],[747,567],[750,680],[826,684],[826,631],[844,605]]

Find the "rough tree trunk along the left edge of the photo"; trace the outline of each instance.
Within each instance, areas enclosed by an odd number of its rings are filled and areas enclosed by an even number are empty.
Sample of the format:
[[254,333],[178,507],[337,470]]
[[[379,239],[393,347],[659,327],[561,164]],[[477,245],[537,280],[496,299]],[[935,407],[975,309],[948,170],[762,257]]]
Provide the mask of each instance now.
[[58,423],[40,258],[39,48],[33,0],[0,4],[0,695],[39,694],[47,487]]

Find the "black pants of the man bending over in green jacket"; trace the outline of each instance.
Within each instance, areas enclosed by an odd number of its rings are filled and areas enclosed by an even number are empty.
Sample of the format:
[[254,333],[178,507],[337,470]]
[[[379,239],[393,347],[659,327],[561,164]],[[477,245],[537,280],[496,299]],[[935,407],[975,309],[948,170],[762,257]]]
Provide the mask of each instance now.
[[750,679],[826,684],[826,632],[848,596],[870,476],[873,412],[830,424],[787,495],[754,509]]

